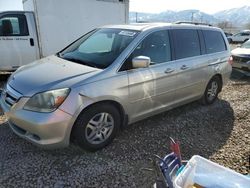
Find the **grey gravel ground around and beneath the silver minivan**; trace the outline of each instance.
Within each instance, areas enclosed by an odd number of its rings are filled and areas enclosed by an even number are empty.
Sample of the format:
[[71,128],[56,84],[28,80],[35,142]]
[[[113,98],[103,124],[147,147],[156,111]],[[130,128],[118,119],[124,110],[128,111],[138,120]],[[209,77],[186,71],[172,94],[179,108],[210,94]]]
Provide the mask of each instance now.
[[[1,85],[3,82],[1,83]],[[152,154],[202,155],[242,174],[250,156],[250,78],[236,75],[213,105],[194,102],[132,124],[101,151],[75,145],[42,150],[14,135],[0,116],[0,187],[150,187]]]

